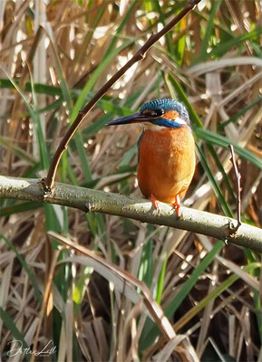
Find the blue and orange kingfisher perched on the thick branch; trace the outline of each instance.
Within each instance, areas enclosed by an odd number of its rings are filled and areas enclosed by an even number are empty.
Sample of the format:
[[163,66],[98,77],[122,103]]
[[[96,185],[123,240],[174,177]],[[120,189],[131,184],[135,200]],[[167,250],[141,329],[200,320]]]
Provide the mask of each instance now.
[[106,126],[141,123],[138,140],[138,184],[141,193],[159,210],[159,201],[176,209],[186,194],[195,172],[195,140],[185,106],[169,98],[150,100],[127,117]]

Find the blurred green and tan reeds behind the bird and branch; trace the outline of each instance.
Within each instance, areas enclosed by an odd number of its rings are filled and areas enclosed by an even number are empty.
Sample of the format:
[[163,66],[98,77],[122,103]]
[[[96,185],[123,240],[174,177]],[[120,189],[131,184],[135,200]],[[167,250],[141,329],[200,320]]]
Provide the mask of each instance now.
[[[185,4],[1,0],[1,174],[45,176],[78,111]],[[198,167],[184,205],[236,216],[233,144],[242,221],[261,226],[261,24],[258,0],[202,0],[97,103],[64,153],[57,181],[141,197],[140,127],[103,125],[147,100],[172,97],[187,105],[197,140]],[[0,223],[3,360],[14,359],[8,357],[13,339],[38,350],[53,340],[49,358],[57,361],[262,358],[261,258],[255,252],[35,202],[2,199]],[[181,341],[167,344],[141,306],[114,291],[88,262],[73,262],[73,250],[58,247],[47,231],[144,281]],[[25,359],[30,356],[15,360]]]

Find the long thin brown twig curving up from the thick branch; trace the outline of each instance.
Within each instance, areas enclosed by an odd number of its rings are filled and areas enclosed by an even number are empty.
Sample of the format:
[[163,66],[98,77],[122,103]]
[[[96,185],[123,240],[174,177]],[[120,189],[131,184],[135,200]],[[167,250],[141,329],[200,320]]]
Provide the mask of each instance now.
[[164,26],[162,28],[162,30],[160,30],[159,33],[152,34],[150,36],[149,40],[146,43],[144,43],[144,45],[141,47],[141,49],[133,55],[131,60],[126,62],[126,64],[119,71],[117,71],[112,76],[112,78],[102,86],[102,88],[100,90],[98,90],[98,92],[93,96],[92,100],[90,100],[85,105],[85,107],[82,110],[79,111],[79,113],[78,113],[76,119],[74,120],[72,126],[70,127],[70,129],[68,129],[66,131],[60,145],[58,146],[56,152],[53,155],[53,159],[52,159],[51,165],[49,167],[48,174],[47,174],[46,178],[43,180],[43,186],[44,186],[44,191],[45,192],[50,192],[53,189],[53,183],[54,183],[57,167],[59,165],[59,162],[60,162],[60,159],[61,159],[61,157],[63,155],[63,152],[67,148],[70,140],[73,138],[74,133],[76,132],[76,130],[81,125],[82,120],[87,116],[87,114],[90,112],[90,110],[92,110],[93,106],[97,103],[97,101],[100,100],[102,98],[102,96],[108,90],[110,90],[112,85],[116,81],[118,81],[121,78],[121,76],[126,71],[128,71],[135,62],[141,61],[141,59],[143,59],[145,57],[146,52],[148,52],[150,47],[154,43],[156,43],[158,40],[160,40],[160,38],[163,35],[168,33],[176,24],[178,24],[180,22],[180,20],[186,14],[188,14],[190,10],[192,10],[195,7],[195,5],[199,4],[200,1],[201,0],[190,0],[189,3],[187,5],[185,5],[185,7],[180,11],[180,14],[175,16],[170,21],[169,24],[167,24],[166,26]]

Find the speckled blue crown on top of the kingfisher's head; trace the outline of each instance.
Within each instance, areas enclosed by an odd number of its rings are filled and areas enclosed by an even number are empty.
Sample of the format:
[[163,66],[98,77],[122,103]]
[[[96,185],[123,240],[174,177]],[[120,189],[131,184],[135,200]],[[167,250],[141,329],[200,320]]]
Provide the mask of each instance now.
[[180,118],[189,122],[189,112],[186,107],[176,100],[170,98],[162,98],[160,100],[150,100],[149,102],[141,106],[141,112],[143,110],[176,110],[180,114]]

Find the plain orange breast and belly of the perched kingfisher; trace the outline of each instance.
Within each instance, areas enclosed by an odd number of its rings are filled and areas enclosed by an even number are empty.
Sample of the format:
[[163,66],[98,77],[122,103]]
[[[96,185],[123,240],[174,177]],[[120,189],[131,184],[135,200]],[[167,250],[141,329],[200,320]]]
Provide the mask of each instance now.
[[195,166],[195,141],[188,127],[144,131],[138,182],[145,197],[173,204],[176,195],[185,195]]

